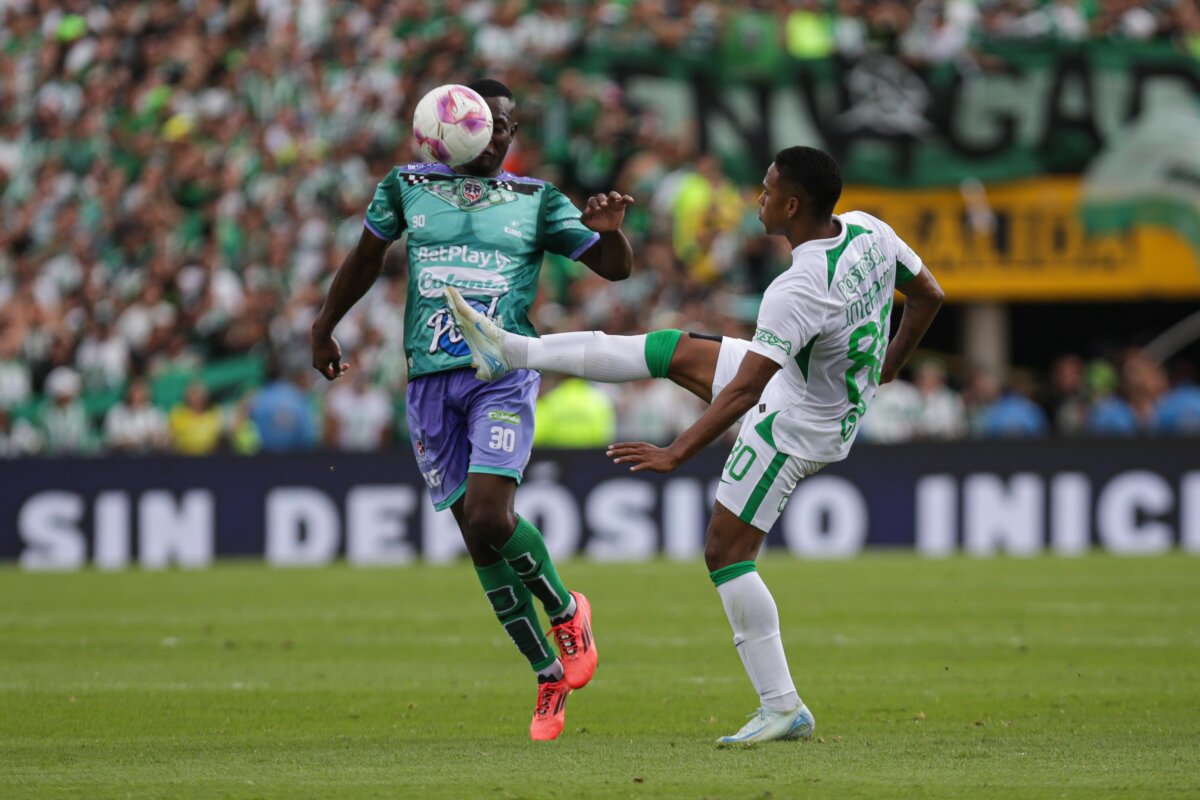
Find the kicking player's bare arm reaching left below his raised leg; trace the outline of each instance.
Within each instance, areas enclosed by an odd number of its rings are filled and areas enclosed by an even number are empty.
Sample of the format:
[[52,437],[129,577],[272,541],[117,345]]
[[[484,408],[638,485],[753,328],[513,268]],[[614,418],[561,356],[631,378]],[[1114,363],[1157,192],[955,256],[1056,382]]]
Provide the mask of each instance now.
[[779,372],[779,365],[757,353],[746,353],[738,374],[696,422],[666,447],[644,441],[622,441],[608,447],[607,455],[617,464],[632,464],[631,473],[649,470],[670,473],[688,461],[758,402],[767,383]]

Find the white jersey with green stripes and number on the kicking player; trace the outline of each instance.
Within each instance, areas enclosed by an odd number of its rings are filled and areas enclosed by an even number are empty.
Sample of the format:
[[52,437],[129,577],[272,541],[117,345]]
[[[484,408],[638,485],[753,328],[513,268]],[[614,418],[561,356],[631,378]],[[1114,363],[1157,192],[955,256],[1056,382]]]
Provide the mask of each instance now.
[[[818,462],[846,457],[875,396],[896,284],[920,258],[882,219],[834,216],[833,239],[792,251],[763,294],[750,350],[780,365],[751,416],[776,450]],[[769,417],[769,421],[768,421]]]

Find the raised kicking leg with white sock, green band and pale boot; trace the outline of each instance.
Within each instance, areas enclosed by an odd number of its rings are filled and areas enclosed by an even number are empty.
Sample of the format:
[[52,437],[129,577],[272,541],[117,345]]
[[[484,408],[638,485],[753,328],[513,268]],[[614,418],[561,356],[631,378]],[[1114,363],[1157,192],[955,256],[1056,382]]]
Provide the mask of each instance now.
[[[679,330],[636,336],[578,331],[535,338],[505,331],[475,311],[454,287],[445,289],[445,296],[470,348],[475,375],[480,380],[496,380],[522,368],[610,384],[670,378],[706,401],[710,399],[719,339],[683,338]],[[677,356],[678,350],[682,353]]]

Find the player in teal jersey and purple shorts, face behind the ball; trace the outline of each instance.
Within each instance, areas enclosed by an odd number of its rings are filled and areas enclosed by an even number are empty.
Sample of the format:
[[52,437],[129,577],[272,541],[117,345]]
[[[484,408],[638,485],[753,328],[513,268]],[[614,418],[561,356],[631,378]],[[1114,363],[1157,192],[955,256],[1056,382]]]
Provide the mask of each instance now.
[[[629,277],[634,257],[620,225],[634,198],[598,194],[581,213],[550,184],[504,172],[517,131],[512,92],[496,80],[472,89],[492,110],[491,143],[457,169],[407,164],[379,182],[362,236],[313,321],[312,363],[329,380],[347,371],[334,329],[379,276],[388,246],[407,234],[413,450],[434,507],[454,513],[492,610],[538,675],[529,732],[545,740],[562,732],[566,697],[592,679],[598,658],[587,597],[566,589],[541,533],[512,506],[541,375],[515,369],[494,383],[478,380],[443,290],[456,288],[505,330],[536,336],[528,313],[544,253],[578,259],[610,281]],[[534,597],[550,618],[557,655]]]

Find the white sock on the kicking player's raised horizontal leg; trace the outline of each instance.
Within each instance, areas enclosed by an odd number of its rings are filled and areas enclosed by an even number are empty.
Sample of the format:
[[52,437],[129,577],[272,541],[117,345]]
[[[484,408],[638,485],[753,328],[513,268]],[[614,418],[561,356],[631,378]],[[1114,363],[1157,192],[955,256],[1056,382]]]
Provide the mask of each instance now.
[[646,333],[608,336],[600,331],[550,333],[539,338],[508,333],[504,355],[514,368],[545,369],[620,384],[650,377]]

